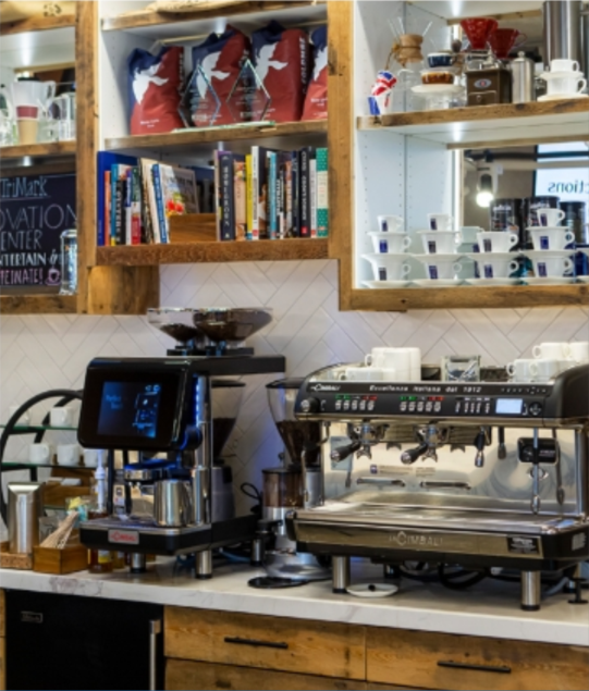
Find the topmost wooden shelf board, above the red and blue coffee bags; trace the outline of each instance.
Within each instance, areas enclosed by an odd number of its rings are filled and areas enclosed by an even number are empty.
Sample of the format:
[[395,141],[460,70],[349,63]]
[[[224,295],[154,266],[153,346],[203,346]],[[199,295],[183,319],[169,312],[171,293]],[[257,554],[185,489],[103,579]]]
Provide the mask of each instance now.
[[[250,2],[235,0],[228,4],[204,7],[194,12],[154,12],[138,10],[119,16],[105,17],[103,32],[132,32],[143,36],[171,38],[174,35],[187,36],[197,32],[206,35],[219,30],[219,18],[231,17],[231,24],[240,29],[247,24],[260,24],[268,21],[269,15],[280,22],[287,22],[289,16],[297,22],[319,18],[326,14],[324,0],[263,0]],[[240,22],[240,17],[244,22]]]

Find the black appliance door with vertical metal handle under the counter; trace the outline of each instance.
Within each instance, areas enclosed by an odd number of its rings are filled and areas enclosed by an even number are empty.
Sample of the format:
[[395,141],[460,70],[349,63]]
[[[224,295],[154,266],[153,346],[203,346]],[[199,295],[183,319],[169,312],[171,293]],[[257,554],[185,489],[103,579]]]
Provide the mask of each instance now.
[[161,605],[19,590],[5,599],[8,690],[163,689]]

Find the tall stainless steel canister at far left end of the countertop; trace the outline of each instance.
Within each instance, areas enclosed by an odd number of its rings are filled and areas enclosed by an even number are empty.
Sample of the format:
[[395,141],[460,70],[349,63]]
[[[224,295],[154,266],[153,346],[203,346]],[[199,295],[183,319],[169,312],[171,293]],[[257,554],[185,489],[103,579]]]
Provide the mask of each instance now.
[[9,542],[13,554],[33,554],[39,544],[42,482],[9,482]]

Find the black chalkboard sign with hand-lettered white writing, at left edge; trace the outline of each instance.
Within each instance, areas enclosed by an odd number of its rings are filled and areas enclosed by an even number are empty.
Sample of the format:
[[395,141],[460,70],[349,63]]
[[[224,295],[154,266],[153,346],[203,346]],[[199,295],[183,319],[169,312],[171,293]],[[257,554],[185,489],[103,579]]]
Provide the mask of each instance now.
[[75,180],[75,173],[0,177],[2,292],[59,292],[60,235],[76,227]]

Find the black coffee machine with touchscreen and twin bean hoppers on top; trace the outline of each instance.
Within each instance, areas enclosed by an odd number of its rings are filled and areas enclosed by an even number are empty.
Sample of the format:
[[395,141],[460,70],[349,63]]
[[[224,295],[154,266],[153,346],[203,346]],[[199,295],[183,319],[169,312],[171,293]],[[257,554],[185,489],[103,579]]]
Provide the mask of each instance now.
[[[83,522],[81,540],[130,553],[136,572],[147,554],[194,553],[196,577],[210,578],[212,550],[253,540],[258,521],[255,514],[235,516],[230,469],[216,462],[243,384],[213,378],[283,372],[285,360],[243,345],[271,321],[269,310],[162,308],[149,321],[180,342],[168,357],[97,358],[86,372],[78,439],[108,449],[109,482],[106,516]],[[219,396],[225,400],[216,406]],[[125,458],[124,510],[113,493],[116,451]],[[128,462],[130,452],[136,462]],[[151,514],[133,511],[137,485],[150,489]]]

